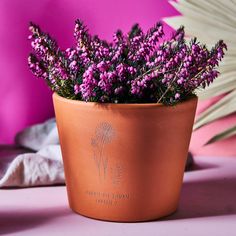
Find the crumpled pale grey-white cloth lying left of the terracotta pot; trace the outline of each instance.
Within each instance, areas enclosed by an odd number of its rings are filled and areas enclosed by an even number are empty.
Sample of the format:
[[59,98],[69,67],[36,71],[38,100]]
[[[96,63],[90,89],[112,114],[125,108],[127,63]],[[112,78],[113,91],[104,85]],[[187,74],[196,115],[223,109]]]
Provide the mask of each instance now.
[[16,145],[0,146],[0,188],[65,183],[55,119],[18,133]]

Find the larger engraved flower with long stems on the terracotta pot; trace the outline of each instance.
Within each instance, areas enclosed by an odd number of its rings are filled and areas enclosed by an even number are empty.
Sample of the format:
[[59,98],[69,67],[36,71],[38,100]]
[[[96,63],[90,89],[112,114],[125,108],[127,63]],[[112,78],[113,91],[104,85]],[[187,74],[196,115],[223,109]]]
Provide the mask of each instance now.
[[100,123],[96,130],[95,135],[91,139],[91,145],[93,146],[93,158],[98,168],[99,178],[106,178],[108,167],[108,156],[106,155],[106,146],[112,142],[115,136],[115,131],[111,124],[108,122]]

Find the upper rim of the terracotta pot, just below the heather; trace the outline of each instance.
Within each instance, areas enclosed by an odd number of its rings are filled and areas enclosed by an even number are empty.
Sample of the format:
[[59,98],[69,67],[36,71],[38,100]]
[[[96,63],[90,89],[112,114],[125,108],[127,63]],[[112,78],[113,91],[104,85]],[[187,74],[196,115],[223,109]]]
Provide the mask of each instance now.
[[165,107],[165,108],[171,108],[171,107],[176,107],[176,106],[183,106],[185,104],[191,103],[192,101],[197,101],[198,96],[193,94],[193,96],[185,101],[179,102],[176,105],[173,106],[168,106],[164,105],[162,103],[99,103],[99,102],[85,102],[85,101],[80,101],[80,100],[72,100],[69,98],[62,97],[58,95],[56,92],[53,93],[53,98],[57,100],[61,100],[62,102],[74,104],[74,105],[83,105],[87,107],[113,107],[113,108],[150,108],[150,107]]

